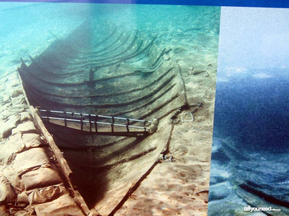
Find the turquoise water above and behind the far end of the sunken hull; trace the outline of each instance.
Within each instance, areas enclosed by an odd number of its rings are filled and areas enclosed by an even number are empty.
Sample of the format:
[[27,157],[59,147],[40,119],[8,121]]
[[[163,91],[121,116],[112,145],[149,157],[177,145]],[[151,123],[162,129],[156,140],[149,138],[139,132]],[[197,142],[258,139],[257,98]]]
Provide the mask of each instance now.
[[187,46],[188,54],[216,55],[219,13],[220,7],[0,2],[0,74],[19,66],[17,59],[23,55],[39,55],[55,40],[51,32],[65,38],[93,18],[158,36],[161,46]]

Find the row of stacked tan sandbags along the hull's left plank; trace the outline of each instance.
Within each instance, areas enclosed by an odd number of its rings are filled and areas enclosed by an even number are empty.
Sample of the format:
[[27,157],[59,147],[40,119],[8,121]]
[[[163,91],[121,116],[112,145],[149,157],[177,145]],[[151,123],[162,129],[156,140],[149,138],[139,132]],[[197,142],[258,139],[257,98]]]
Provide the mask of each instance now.
[[0,170],[0,204],[26,206],[8,209],[16,216],[84,215],[67,192],[55,157],[38,133],[31,117],[26,118],[0,146],[2,163],[6,163]]

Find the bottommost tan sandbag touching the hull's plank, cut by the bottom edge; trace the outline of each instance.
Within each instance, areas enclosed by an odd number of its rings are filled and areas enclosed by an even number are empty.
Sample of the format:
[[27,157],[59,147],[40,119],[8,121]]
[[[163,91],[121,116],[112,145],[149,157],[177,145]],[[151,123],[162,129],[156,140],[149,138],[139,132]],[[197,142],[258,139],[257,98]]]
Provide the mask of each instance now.
[[37,216],[84,216],[80,207],[69,194],[60,196],[51,202],[35,205],[34,210]]

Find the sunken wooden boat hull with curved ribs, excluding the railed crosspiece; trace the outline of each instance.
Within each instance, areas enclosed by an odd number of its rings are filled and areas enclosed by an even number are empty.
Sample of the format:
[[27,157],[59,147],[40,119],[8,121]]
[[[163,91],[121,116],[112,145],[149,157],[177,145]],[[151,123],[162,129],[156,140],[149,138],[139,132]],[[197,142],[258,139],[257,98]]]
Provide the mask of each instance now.
[[168,51],[156,46],[156,37],[95,23],[86,21],[67,38],[57,38],[41,55],[30,56],[29,65],[22,60],[18,71],[34,107],[159,120],[156,133],[137,138],[78,134],[77,125],[43,120],[89,208],[109,215],[157,161],[170,136],[169,119],[187,100],[180,68],[163,58]]

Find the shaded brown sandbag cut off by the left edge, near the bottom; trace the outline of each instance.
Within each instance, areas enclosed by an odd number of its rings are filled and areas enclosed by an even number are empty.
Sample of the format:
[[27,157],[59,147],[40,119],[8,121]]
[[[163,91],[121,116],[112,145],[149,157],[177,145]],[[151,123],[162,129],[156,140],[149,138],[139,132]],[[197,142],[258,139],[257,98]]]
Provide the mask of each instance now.
[[16,194],[5,176],[0,176],[0,204],[13,203]]

